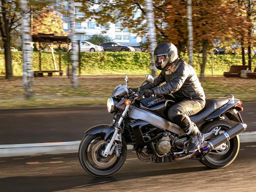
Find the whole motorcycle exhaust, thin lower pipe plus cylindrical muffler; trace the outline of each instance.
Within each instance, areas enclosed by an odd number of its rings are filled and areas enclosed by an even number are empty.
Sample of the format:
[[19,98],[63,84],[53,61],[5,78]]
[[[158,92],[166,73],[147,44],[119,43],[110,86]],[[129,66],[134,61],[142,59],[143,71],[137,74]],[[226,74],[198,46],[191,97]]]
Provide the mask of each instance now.
[[234,125],[229,130],[224,132],[223,134],[218,135],[217,137],[207,141],[207,145],[205,147],[201,148],[199,151],[196,151],[195,153],[189,154],[184,157],[177,157],[177,158],[175,158],[175,160],[185,160],[185,159],[194,157],[204,151],[208,151],[208,150],[211,151],[215,147],[219,146],[221,143],[224,143],[224,142],[232,139],[233,137],[236,137],[238,134],[242,133],[243,131],[245,131],[246,127],[247,127],[247,124],[245,124],[245,123],[239,123],[237,125]]

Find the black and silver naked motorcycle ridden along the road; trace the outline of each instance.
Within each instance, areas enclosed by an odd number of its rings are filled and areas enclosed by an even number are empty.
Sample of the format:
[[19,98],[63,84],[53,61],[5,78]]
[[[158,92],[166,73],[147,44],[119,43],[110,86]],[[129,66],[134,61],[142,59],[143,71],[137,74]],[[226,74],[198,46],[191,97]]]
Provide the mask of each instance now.
[[[152,163],[194,159],[209,168],[220,168],[236,159],[240,148],[238,134],[247,126],[240,115],[243,107],[239,99],[231,94],[206,99],[204,109],[190,116],[205,142],[200,150],[189,154],[189,136],[167,116],[175,102],[163,96],[144,98],[129,91],[127,82],[125,74],[125,85],[119,84],[108,98],[107,109],[113,113],[111,124],[99,124],[84,132],[78,156],[89,174],[115,174],[125,162],[127,144],[133,145],[138,159]],[[153,82],[148,74],[143,83]]]

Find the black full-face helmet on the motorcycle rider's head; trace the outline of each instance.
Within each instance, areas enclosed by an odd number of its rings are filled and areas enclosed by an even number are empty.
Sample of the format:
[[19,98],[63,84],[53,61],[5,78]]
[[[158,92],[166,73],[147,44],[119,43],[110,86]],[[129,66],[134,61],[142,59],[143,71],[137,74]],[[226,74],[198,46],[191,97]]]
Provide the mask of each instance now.
[[[164,56],[162,62],[158,62],[158,56]],[[156,47],[154,51],[155,65],[159,70],[166,69],[178,58],[178,51],[171,42],[164,42]]]

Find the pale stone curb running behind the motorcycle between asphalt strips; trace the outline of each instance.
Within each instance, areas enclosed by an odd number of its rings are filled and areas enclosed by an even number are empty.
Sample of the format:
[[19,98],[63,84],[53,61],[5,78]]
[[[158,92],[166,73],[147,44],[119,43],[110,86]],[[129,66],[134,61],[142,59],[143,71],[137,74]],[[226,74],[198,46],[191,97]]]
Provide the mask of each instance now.
[[[256,142],[256,132],[239,134],[241,143]],[[50,142],[50,143],[26,143],[0,145],[1,157],[38,156],[78,153],[79,141]],[[127,145],[127,150],[132,150],[132,145]]]

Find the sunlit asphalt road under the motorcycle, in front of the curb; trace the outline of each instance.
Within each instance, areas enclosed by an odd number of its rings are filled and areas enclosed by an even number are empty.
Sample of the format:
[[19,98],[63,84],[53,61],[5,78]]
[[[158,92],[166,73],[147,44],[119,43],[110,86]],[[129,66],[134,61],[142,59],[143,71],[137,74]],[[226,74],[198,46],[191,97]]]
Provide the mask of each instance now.
[[254,192],[255,167],[255,143],[242,143],[237,159],[220,169],[208,169],[196,160],[145,163],[130,150],[123,167],[109,178],[90,176],[77,154],[0,158],[0,191]]

